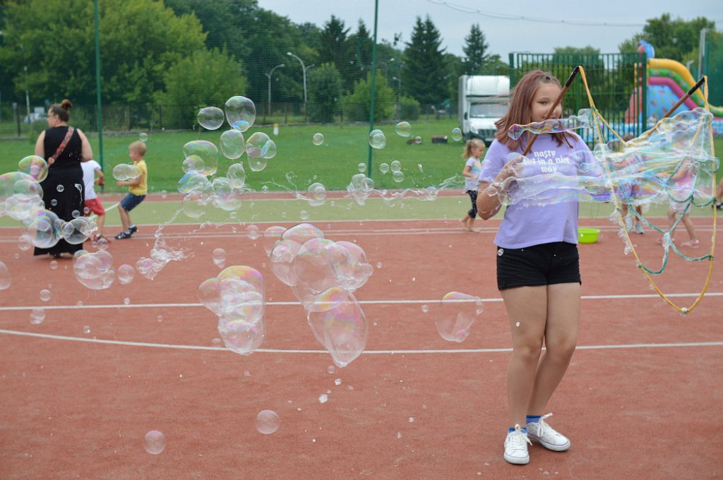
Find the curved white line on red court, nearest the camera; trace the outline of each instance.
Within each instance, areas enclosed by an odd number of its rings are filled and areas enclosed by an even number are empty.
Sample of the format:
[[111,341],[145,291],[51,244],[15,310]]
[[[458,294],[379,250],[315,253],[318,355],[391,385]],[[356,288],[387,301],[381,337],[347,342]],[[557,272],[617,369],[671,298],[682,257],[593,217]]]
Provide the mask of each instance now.
[[[24,337],[47,338],[49,340],[66,340],[73,342],[85,343],[103,343],[106,345],[117,346],[134,346],[147,348],[174,348],[176,350],[217,350],[227,351],[228,348],[223,347],[205,347],[196,345],[171,345],[168,343],[143,343],[143,342],[126,342],[121,340],[99,340],[98,338],[80,338],[68,337],[66,335],[48,335],[46,333],[19,332],[15,330],[0,329],[0,334],[18,335]],[[723,346],[723,342],[686,342],[686,343],[633,343],[628,345],[583,345],[578,346],[578,350],[605,350],[618,348],[681,348],[681,347],[719,347]],[[500,353],[510,352],[512,348],[463,348],[455,350],[365,350],[362,355],[398,355],[398,354],[417,354],[417,353]],[[293,350],[276,348],[258,348],[254,353],[328,353],[325,350]]]

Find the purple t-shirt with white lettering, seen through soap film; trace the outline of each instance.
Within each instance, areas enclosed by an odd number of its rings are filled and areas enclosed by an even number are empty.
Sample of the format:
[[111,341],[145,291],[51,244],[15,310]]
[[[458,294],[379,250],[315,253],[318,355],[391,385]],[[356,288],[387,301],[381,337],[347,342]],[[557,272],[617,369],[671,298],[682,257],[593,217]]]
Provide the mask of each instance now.
[[[579,163],[591,161],[592,155],[586,143],[576,134],[570,134],[570,144],[572,147],[568,147],[565,142],[557,145],[555,139],[547,134],[537,137],[531,152],[526,155],[530,161],[525,162],[525,176],[552,171],[575,176],[579,171]],[[522,150],[510,150],[497,140],[492,142],[484,156],[479,181],[492,182],[508,162],[508,155],[522,153]],[[573,155],[575,152],[578,153]],[[548,194],[548,197],[554,196]],[[495,236],[497,247],[521,249],[554,241],[578,243],[577,201],[553,201],[548,205],[536,203],[539,202],[521,200],[507,206]]]

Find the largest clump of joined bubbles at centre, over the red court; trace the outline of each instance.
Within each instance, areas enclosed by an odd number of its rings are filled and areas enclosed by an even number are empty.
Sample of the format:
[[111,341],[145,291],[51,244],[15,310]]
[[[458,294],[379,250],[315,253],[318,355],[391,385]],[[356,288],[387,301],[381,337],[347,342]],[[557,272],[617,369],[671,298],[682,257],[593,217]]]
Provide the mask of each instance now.
[[335,364],[346,367],[367,345],[367,318],[354,296],[373,272],[364,249],[327,239],[309,223],[271,226],[263,245],[271,271],[306,310],[315,338]]

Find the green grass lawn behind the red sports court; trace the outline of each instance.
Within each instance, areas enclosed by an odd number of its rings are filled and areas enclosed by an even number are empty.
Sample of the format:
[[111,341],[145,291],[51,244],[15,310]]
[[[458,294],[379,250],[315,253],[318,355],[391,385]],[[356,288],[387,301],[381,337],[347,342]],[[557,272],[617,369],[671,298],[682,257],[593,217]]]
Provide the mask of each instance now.
[[[412,124],[412,135],[422,137],[421,145],[407,145],[407,138],[395,133],[394,124],[378,126],[387,137],[387,145],[380,150],[372,149],[372,179],[377,188],[408,188],[428,187],[439,184],[455,173],[461,172],[463,167],[461,154],[462,142],[448,144],[432,144],[433,135],[450,135],[457,124],[454,120],[419,121]],[[369,127],[358,126],[281,126],[277,136],[273,135],[273,128],[249,129],[244,134],[248,138],[252,132],[265,132],[276,143],[278,153],[275,158],[268,160],[268,165],[262,171],[250,171],[245,155],[241,160],[246,167],[247,184],[254,190],[268,185],[271,190],[281,187],[281,184],[294,189],[287,179],[292,178],[296,189],[306,189],[309,184],[316,181],[324,184],[329,190],[343,190],[351,180],[351,176],[359,173],[359,163],[367,165],[369,159]],[[315,133],[324,135],[323,145],[317,146],[312,142]],[[184,172],[181,165],[184,160],[183,146],[192,140],[208,140],[218,145],[223,129],[204,132],[149,132],[146,142],[148,166],[148,184],[151,192],[175,192],[178,180]],[[96,159],[99,159],[98,139],[90,137]],[[107,136],[103,138],[103,172],[111,176],[113,167],[119,163],[128,163],[128,145],[138,140],[138,134],[123,136]],[[17,170],[17,162],[26,155],[32,155],[34,141],[5,140],[0,142],[3,154],[0,156],[0,171]],[[382,176],[378,166],[380,163],[390,163],[399,160],[406,179],[395,183],[391,174]],[[238,160],[228,160],[219,155],[217,175],[225,176],[226,169],[231,163]],[[421,168],[420,168],[421,166]],[[290,174],[293,172],[293,175]],[[114,182],[106,181],[106,192],[123,192],[125,189],[115,187]]]

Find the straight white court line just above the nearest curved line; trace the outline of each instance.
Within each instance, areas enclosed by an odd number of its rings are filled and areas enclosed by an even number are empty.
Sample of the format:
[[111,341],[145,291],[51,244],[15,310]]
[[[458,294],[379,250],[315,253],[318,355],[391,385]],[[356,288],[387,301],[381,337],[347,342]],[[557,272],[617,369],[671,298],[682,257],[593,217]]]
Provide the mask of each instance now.
[[[669,293],[669,298],[696,298],[700,293]],[[723,296],[723,292],[709,292],[707,297]],[[656,293],[640,293],[633,295],[583,295],[583,300],[627,300],[627,299],[659,299]],[[360,300],[362,305],[404,305],[404,304],[435,304],[440,299],[429,300]],[[469,300],[472,301],[472,300]],[[482,302],[500,302],[500,298],[482,299]],[[266,307],[278,307],[288,305],[301,305],[299,301],[267,301]],[[22,310],[32,310],[34,308],[42,308],[45,310],[66,310],[66,309],[138,309],[138,308],[198,308],[203,304],[100,304],[100,305],[26,305],[24,307],[0,307],[0,312],[13,312]]]

